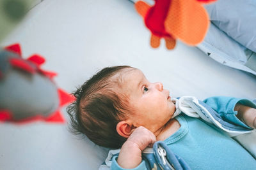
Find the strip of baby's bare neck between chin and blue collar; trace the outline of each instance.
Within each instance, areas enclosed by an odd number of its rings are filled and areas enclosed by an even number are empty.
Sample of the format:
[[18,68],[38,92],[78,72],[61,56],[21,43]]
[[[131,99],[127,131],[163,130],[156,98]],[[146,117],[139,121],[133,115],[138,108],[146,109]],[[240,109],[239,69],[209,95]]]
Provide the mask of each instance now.
[[156,135],[157,141],[164,141],[164,139],[169,138],[172,134],[174,134],[180,128],[180,124],[178,120],[172,118],[167,122],[163,128],[159,129],[158,134]]

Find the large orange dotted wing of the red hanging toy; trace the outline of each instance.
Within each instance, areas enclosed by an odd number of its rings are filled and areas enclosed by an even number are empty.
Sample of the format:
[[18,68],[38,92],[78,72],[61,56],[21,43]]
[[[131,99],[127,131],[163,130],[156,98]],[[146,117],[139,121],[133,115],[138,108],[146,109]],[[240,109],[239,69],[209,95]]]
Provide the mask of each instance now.
[[197,45],[204,39],[209,17],[198,1],[172,0],[164,25],[175,38],[188,45]]

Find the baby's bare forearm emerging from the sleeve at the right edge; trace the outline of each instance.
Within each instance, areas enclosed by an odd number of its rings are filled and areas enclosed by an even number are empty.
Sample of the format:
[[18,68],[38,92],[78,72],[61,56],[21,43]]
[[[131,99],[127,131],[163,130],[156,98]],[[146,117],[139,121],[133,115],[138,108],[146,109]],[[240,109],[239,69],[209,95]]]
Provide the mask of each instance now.
[[256,129],[256,109],[243,104],[236,104],[237,118],[239,118],[246,125]]

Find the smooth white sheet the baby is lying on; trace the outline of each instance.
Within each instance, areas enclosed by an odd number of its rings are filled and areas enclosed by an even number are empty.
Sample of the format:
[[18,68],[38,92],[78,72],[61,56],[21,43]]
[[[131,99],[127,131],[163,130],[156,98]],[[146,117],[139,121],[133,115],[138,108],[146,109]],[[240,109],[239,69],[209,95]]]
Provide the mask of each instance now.
[[[149,45],[150,33],[127,0],[44,0],[1,42],[19,42],[24,56],[43,55],[45,69],[72,92],[102,67],[130,65],[148,80],[163,82],[170,95],[254,99],[256,77],[178,43],[168,51]],[[63,110],[65,113],[65,110]],[[67,117],[67,113],[65,113]],[[67,125],[0,124],[0,169],[97,169],[107,150],[79,139]]]

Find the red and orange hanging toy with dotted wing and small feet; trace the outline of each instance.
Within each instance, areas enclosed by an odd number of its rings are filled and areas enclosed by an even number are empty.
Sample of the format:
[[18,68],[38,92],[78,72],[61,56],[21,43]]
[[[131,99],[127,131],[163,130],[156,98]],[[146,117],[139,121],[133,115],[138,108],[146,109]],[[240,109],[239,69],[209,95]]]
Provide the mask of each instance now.
[[166,48],[171,50],[178,38],[188,45],[204,40],[209,17],[202,3],[213,1],[216,0],[155,0],[153,6],[137,1],[135,8],[151,32],[150,45],[157,48],[164,38]]

